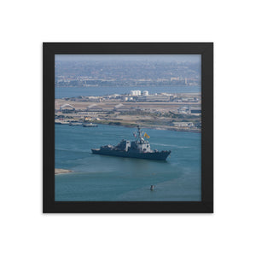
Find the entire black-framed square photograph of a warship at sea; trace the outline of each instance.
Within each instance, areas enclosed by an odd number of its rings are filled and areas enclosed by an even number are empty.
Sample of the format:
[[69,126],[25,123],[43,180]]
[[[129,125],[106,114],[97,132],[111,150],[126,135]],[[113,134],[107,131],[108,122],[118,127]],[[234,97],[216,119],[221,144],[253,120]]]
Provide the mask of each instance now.
[[43,51],[43,212],[213,212],[212,43]]

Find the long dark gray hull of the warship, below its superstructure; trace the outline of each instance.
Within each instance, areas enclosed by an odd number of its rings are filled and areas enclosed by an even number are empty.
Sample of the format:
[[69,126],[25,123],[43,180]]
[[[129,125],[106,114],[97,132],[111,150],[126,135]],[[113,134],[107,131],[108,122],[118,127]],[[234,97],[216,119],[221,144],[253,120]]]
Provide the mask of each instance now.
[[91,149],[93,154],[103,154],[112,155],[119,157],[129,157],[129,158],[139,158],[148,160],[166,160],[167,156],[171,154],[171,151],[160,151],[160,152],[147,152],[147,153],[137,153],[137,152],[125,152],[119,150],[102,150],[102,149]]

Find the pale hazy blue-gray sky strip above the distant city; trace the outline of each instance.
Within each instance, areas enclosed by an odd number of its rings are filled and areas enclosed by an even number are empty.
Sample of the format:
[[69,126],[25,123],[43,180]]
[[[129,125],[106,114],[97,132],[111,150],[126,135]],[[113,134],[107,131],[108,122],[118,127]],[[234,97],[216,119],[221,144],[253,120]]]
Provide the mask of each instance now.
[[55,55],[55,61],[191,61],[200,62],[201,55]]

